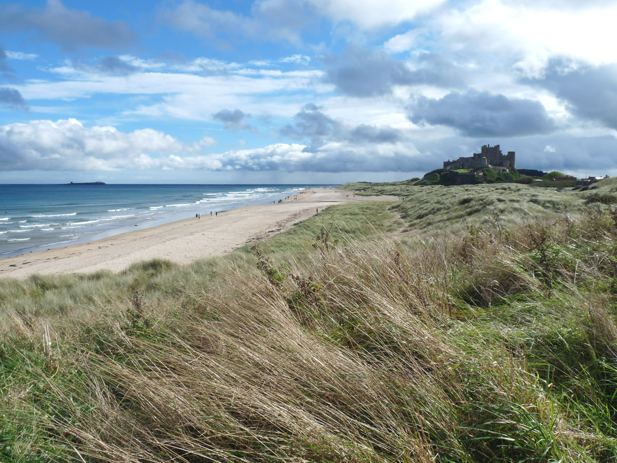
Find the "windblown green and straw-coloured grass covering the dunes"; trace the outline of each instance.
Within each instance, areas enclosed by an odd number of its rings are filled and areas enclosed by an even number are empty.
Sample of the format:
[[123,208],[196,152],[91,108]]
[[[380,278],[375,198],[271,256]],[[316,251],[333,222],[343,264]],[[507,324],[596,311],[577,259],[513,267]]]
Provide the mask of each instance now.
[[343,188],[402,199],[1,278],[0,459],[617,460],[617,182]]

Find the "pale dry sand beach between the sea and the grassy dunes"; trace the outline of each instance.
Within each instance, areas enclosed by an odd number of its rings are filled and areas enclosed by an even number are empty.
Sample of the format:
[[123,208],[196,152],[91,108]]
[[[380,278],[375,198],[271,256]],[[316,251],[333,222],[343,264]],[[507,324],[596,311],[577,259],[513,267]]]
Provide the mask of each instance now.
[[[347,195],[349,194],[349,198]],[[91,243],[0,259],[0,278],[24,278],[35,273],[82,273],[110,269],[120,272],[131,264],[160,257],[188,264],[201,257],[226,254],[252,241],[286,230],[316,209],[352,201],[394,201],[389,196],[355,196],[336,188],[317,188],[296,194],[282,204],[248,206],[180,220],[159,227],[123,233]]]

